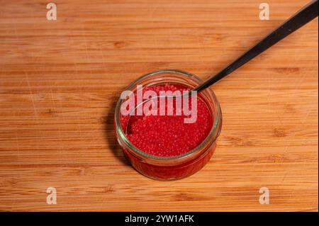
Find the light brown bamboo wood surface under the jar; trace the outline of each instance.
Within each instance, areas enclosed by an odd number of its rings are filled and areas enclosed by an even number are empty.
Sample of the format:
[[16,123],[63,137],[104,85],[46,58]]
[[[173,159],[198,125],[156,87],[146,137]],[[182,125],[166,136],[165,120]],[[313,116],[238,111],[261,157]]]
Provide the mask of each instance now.
[[267,1],[269,21],[255,0],[53,1],[57,21],[48,2],[0,1],[0,210],[318,211],[318,18],[212,87],[223,130],[197,174],[141,176],[112,125],[140,75],[206,78],[306,0]]

